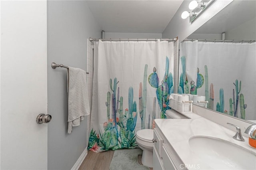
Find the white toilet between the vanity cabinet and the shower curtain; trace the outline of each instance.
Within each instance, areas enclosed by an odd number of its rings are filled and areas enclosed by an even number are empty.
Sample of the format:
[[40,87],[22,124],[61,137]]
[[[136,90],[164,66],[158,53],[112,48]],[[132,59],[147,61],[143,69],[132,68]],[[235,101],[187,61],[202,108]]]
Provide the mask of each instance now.
[[[166,111],[166,117],[167,119],[188,119],[172,109]],[[136,132],[137,144],[143,150],[141,162],[150,168],[153,167],[153,138],[153,129],[141,129]]]

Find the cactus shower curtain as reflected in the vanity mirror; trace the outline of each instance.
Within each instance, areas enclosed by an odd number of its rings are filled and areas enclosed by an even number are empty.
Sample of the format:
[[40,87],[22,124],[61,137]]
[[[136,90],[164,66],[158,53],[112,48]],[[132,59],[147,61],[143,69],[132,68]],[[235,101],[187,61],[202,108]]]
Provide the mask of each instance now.
[[[184,41],[180,43],[180,58],[182,56],[186,59],[188,93],[191,93],[190,82],[194,81],[196,94],[208,98],[208,107],[213,104],[210,109],[246,120],[256,120],[255,42]],[[179,75],[181,73],[180,61]]]

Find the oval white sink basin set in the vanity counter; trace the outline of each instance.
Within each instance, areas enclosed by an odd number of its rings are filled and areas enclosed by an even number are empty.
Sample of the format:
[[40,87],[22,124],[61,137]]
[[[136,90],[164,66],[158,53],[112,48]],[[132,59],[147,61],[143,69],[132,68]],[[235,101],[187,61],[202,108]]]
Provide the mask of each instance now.
[[206,136],[190,138],[191,151],[207,165],[208,169],[256,169],[256,153],[246,148],[222,140]]

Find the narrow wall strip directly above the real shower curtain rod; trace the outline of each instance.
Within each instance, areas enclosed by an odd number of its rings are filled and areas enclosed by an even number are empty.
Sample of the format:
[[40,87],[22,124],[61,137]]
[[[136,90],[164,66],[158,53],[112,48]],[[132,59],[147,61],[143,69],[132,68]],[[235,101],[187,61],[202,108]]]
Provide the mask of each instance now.
[[[159,33],[123,33],[123,32],[105,32],[104,38],[142,38],[142,39],[160,39],[162,38],[162,34]],[[175,37],[169,37],[175,38]]]

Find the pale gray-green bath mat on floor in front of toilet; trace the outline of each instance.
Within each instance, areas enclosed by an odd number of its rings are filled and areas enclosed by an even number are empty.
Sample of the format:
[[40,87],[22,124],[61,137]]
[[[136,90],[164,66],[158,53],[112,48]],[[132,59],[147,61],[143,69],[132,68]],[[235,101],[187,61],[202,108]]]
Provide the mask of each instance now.
[[141,149],[119,149],[115,150],[110,170],[149,170],[148,166],[138,163],[138,155],[142,154]]

